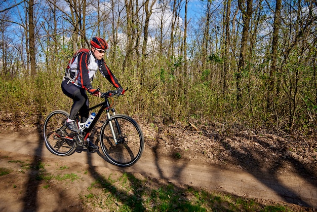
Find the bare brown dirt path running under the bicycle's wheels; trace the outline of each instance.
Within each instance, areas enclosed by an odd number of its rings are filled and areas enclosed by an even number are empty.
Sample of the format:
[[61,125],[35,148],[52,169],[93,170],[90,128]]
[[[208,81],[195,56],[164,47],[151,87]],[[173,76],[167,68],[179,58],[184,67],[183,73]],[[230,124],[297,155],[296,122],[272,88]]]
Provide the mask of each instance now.
[[[109,173],[115,171],[138,173],[146,177],[164,179],[176,185],[190,185],[239,196],[317,208],[317,180],[314,178],[304,179],[295,173],[264,175],[263,172],[258,174],[243,170],[227,170],[207,164],[193,163],[189,160],[169,159],[153,154],[148,148],[145,149],[137,164],[122,169],[107,163],[100,153],[81,152],[68,157],[55,156],[46,149],[44,142],[39,140],[36,133],[22,136],[19,134],[11,134],[10,136],[0,134],[0,153],[2,157],[14,157],[15,160],[37,156],[54,163],[58,161],[59,164],[76,163],[82,164],[82,166],[100,167],[103,172]],[[0,183],[0,202],[10,201],[4,196],[8,189],[7,186]],[[9,211],[14,211],[17,208],[11,209]]]

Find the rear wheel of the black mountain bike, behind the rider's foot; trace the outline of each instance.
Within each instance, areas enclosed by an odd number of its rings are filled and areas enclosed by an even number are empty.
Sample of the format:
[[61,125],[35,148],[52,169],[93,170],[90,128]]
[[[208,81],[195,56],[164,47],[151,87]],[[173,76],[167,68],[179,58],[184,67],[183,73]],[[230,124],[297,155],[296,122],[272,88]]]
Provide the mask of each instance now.
[[[47,149],[58,156],[68,156],[75,152],[76,142],[71,139],[65,121],[69,114],[65,111],[53,111],[44,122],[44,139]],[[67,138],[68,137],[68,138]]]

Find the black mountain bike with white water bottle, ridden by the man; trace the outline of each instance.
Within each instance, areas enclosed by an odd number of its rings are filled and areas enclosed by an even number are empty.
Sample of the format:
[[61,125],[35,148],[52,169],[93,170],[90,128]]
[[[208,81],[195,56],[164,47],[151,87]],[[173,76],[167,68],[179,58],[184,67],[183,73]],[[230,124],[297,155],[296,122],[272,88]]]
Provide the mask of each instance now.
[[[120,95],[121,93],[117,93],[117,91],[101,94],[104,101],[88,109],[92,111],[100,108],[88,128],[85,123],[80,122],[80,116],[77,114],[75,121],[80,133],[71,132],[66,127],[66,120],[69,116],[67,112],[56,110],[50,113],[45,120],[43,130],[47,149],[58,156],[73,154],[77,147],[84,146],[84,142],[105,111],[107,119],[103,122],[99,134],[102,152],[113,165],[129,167],[135,164],[144,150],[144,136],[134,119],[124,114],[115,114],[114,98]],[[111,103],[109,99],[112,100]]]

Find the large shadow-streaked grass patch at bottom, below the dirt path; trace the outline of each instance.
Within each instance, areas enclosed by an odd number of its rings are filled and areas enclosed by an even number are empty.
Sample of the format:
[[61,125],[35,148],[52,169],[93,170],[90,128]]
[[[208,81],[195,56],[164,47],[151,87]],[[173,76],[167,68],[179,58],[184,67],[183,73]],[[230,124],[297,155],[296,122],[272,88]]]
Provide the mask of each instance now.
[[130,173],[101,177],[87,191],[80,195],[84,205],[109,211],[290,211],[217,191],[139,180]]

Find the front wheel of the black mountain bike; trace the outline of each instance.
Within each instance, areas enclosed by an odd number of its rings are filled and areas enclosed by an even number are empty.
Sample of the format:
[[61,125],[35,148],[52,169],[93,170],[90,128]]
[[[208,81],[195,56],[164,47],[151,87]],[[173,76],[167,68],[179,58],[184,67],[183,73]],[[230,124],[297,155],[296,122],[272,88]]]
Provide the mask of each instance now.
[[[115,144],[109,122],[112,122],[117,144]],[[121,133],[118,133],[120,126]],[[144,150],[144,136],[140,126],[131,117],[117,114],[104,122],[100,130],[100,146],[102,152],[113,165],[129,167],[135,164]]]

